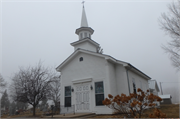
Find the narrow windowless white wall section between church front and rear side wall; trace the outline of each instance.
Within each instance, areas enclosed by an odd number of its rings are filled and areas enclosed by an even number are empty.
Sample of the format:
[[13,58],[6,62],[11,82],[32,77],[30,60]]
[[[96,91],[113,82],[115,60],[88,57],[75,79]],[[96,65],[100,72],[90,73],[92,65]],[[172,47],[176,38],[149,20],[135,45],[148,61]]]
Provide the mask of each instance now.
[[116,65],[116,79],[117,79],[117,94],[121,95],[122,93],[129,95],[128,80],[126,69],[123,65]]

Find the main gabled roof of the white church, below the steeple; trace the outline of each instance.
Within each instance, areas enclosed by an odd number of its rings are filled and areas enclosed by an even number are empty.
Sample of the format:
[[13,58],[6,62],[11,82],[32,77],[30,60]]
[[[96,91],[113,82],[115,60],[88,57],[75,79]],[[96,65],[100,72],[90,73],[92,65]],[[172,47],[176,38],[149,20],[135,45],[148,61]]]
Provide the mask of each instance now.
[[80,49],[78,48],[77,50],[75,50],[64,62],[62,62],[57,68],[57,71],[61,71],[61,69],[69,62],[71,61],[71,59],[73,59],[73,57],[75,57],[78,53],[86,53],[86,54],[90,54],[90,55],[94,55],[94,56],[98,56],[98,57],[103,57],[105,60],[112,62],[114,64],[121,64],[123,65],[126,69],[131,70],[137,74],[139,74],[140,76],[146,78],[147,80],[150,80],[151,78],[149,76],[147,76],[145,73],[141,72],[139,69],[137,69],[136,67],[134,67],[133,65],[131,65],[130,63],[124,62],[124,61],[120,61],[120,60],[116,60],[115,58],[109,56],[109,55],[105,55],[105,54],[100,54],[100,53],[96,53],[93,51],[89,51],[89,50],[84,50],[84,49]]

